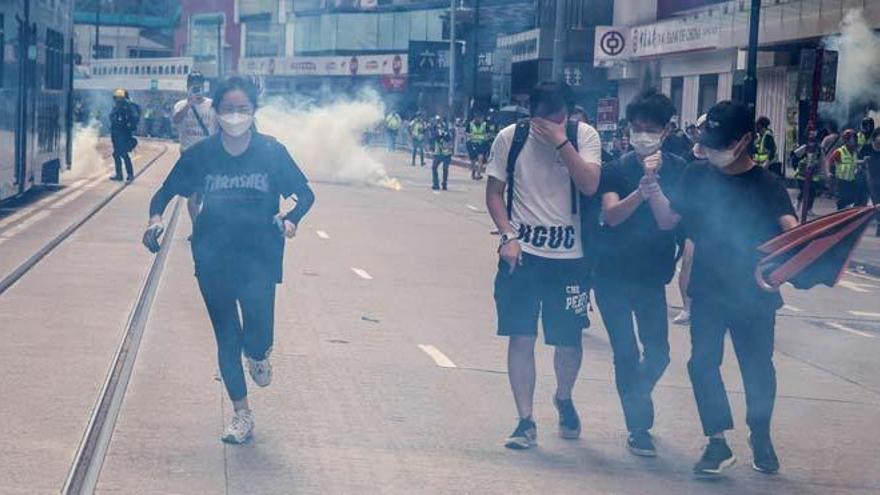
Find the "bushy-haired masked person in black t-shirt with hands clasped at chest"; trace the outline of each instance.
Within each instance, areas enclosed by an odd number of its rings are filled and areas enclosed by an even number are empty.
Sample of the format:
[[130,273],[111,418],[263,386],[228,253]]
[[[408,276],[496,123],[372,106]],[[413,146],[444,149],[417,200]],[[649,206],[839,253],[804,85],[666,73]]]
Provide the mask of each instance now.
[[[614,350],[614,378],[635,455],[656,455],[651,392],[669,365],[666,284],[675,273],[676,236],[669,200],[685,168],[661,152],[672,132],[672,101],[648,90],[626,108],[634,151],[602,169],[604,226],[596,263],[596,302]],[[633,328],[638,324],[638,340]],[[639,350],[642,343],[644,353]]]

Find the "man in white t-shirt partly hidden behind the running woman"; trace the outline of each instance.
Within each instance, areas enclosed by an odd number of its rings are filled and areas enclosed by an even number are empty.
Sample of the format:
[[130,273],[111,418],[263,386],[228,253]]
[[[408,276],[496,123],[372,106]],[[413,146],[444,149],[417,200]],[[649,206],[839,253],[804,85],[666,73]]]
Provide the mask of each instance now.
[[[180,153],[192,145],[217,132],[217,115],[213,101],[204,96],[205,77],[199,72],[191,72],[186,78],[187,96],[174,104],[172,120],[180,136]],[[195,223],[201,208],[198,194],[187,199],[186,209],[190,220]]]

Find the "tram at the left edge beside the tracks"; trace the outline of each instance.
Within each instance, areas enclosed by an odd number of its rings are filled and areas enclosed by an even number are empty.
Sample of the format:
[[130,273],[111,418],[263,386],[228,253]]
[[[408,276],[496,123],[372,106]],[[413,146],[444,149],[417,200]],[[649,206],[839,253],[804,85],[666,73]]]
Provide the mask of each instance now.
[[71,165],[73,3],[0,0],[0,201]]

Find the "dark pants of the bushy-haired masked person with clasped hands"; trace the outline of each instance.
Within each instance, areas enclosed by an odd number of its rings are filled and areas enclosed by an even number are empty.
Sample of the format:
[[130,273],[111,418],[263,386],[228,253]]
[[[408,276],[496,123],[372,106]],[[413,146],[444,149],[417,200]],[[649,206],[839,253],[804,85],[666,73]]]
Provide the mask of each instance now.
[[595,291],[614,351],[614,378],[626,428],[631,432],[650,430],[654,426],[651,392],[669,365],[666,289],[597,280]]

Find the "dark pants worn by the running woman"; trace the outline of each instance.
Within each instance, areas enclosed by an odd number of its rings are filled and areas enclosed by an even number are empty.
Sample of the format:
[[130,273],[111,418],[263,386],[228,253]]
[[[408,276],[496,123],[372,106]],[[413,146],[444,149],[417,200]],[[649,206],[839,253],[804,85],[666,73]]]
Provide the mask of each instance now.
[[[217,339],[217,361],[226,392],[233,401],[247,397],[241,354],[261,360],[272,348],[275,333],[275,283],[237,284],[199,277],[199,289]],[[240,311],[240,313],[239,313]]]

